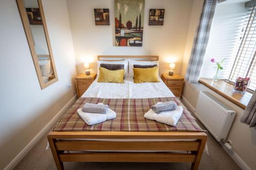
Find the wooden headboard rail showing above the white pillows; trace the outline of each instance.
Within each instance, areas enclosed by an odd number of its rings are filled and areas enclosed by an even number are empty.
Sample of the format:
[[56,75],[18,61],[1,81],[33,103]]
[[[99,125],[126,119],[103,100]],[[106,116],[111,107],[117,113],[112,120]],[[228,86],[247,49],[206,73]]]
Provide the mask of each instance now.
[[159,56],[98,56],[98,61],[122,61],[129,58],[139,61],[159,60]]

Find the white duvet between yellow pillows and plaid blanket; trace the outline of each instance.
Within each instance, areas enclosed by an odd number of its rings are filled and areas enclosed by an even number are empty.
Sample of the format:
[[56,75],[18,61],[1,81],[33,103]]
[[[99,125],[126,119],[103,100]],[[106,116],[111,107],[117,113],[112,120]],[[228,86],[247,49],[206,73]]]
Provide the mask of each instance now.
[[143,99],[175,96],[160,78],[158,83],[134,83],[133,78],[125,78],[123,84],[98,83],[97,80],[83,93],[82,98]]

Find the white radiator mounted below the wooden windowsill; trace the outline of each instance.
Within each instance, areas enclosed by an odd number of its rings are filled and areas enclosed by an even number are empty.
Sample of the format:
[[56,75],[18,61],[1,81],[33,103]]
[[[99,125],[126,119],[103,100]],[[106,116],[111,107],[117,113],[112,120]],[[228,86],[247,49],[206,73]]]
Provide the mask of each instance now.
[[200,91],[195,114],[208,131],[221,141],[226,139],[236,111],[209,92]]

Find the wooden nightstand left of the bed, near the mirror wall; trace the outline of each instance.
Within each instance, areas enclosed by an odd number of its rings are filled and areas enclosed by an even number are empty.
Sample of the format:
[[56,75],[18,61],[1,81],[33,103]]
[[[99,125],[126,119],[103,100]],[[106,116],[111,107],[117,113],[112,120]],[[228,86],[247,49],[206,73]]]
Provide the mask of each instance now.
[[80,96],[88,89],[88,87],[96,79],[96,76],[97,74],[80,74],[75,77],[76,93],[78,98],[80,98]]

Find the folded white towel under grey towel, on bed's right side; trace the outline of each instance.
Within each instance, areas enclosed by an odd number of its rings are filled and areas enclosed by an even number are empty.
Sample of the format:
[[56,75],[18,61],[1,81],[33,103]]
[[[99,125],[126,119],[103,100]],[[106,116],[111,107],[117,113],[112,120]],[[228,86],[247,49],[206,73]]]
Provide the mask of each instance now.
[[176,110],[162,112],[162,113],[155,113],[152,109],[148,110],[144,114],[144,117],[150,120],[156,120],[157,122],[167,124],[170,126],[176,126],[178,120],[180,119],[183,112],[182,106],[177,106]]

